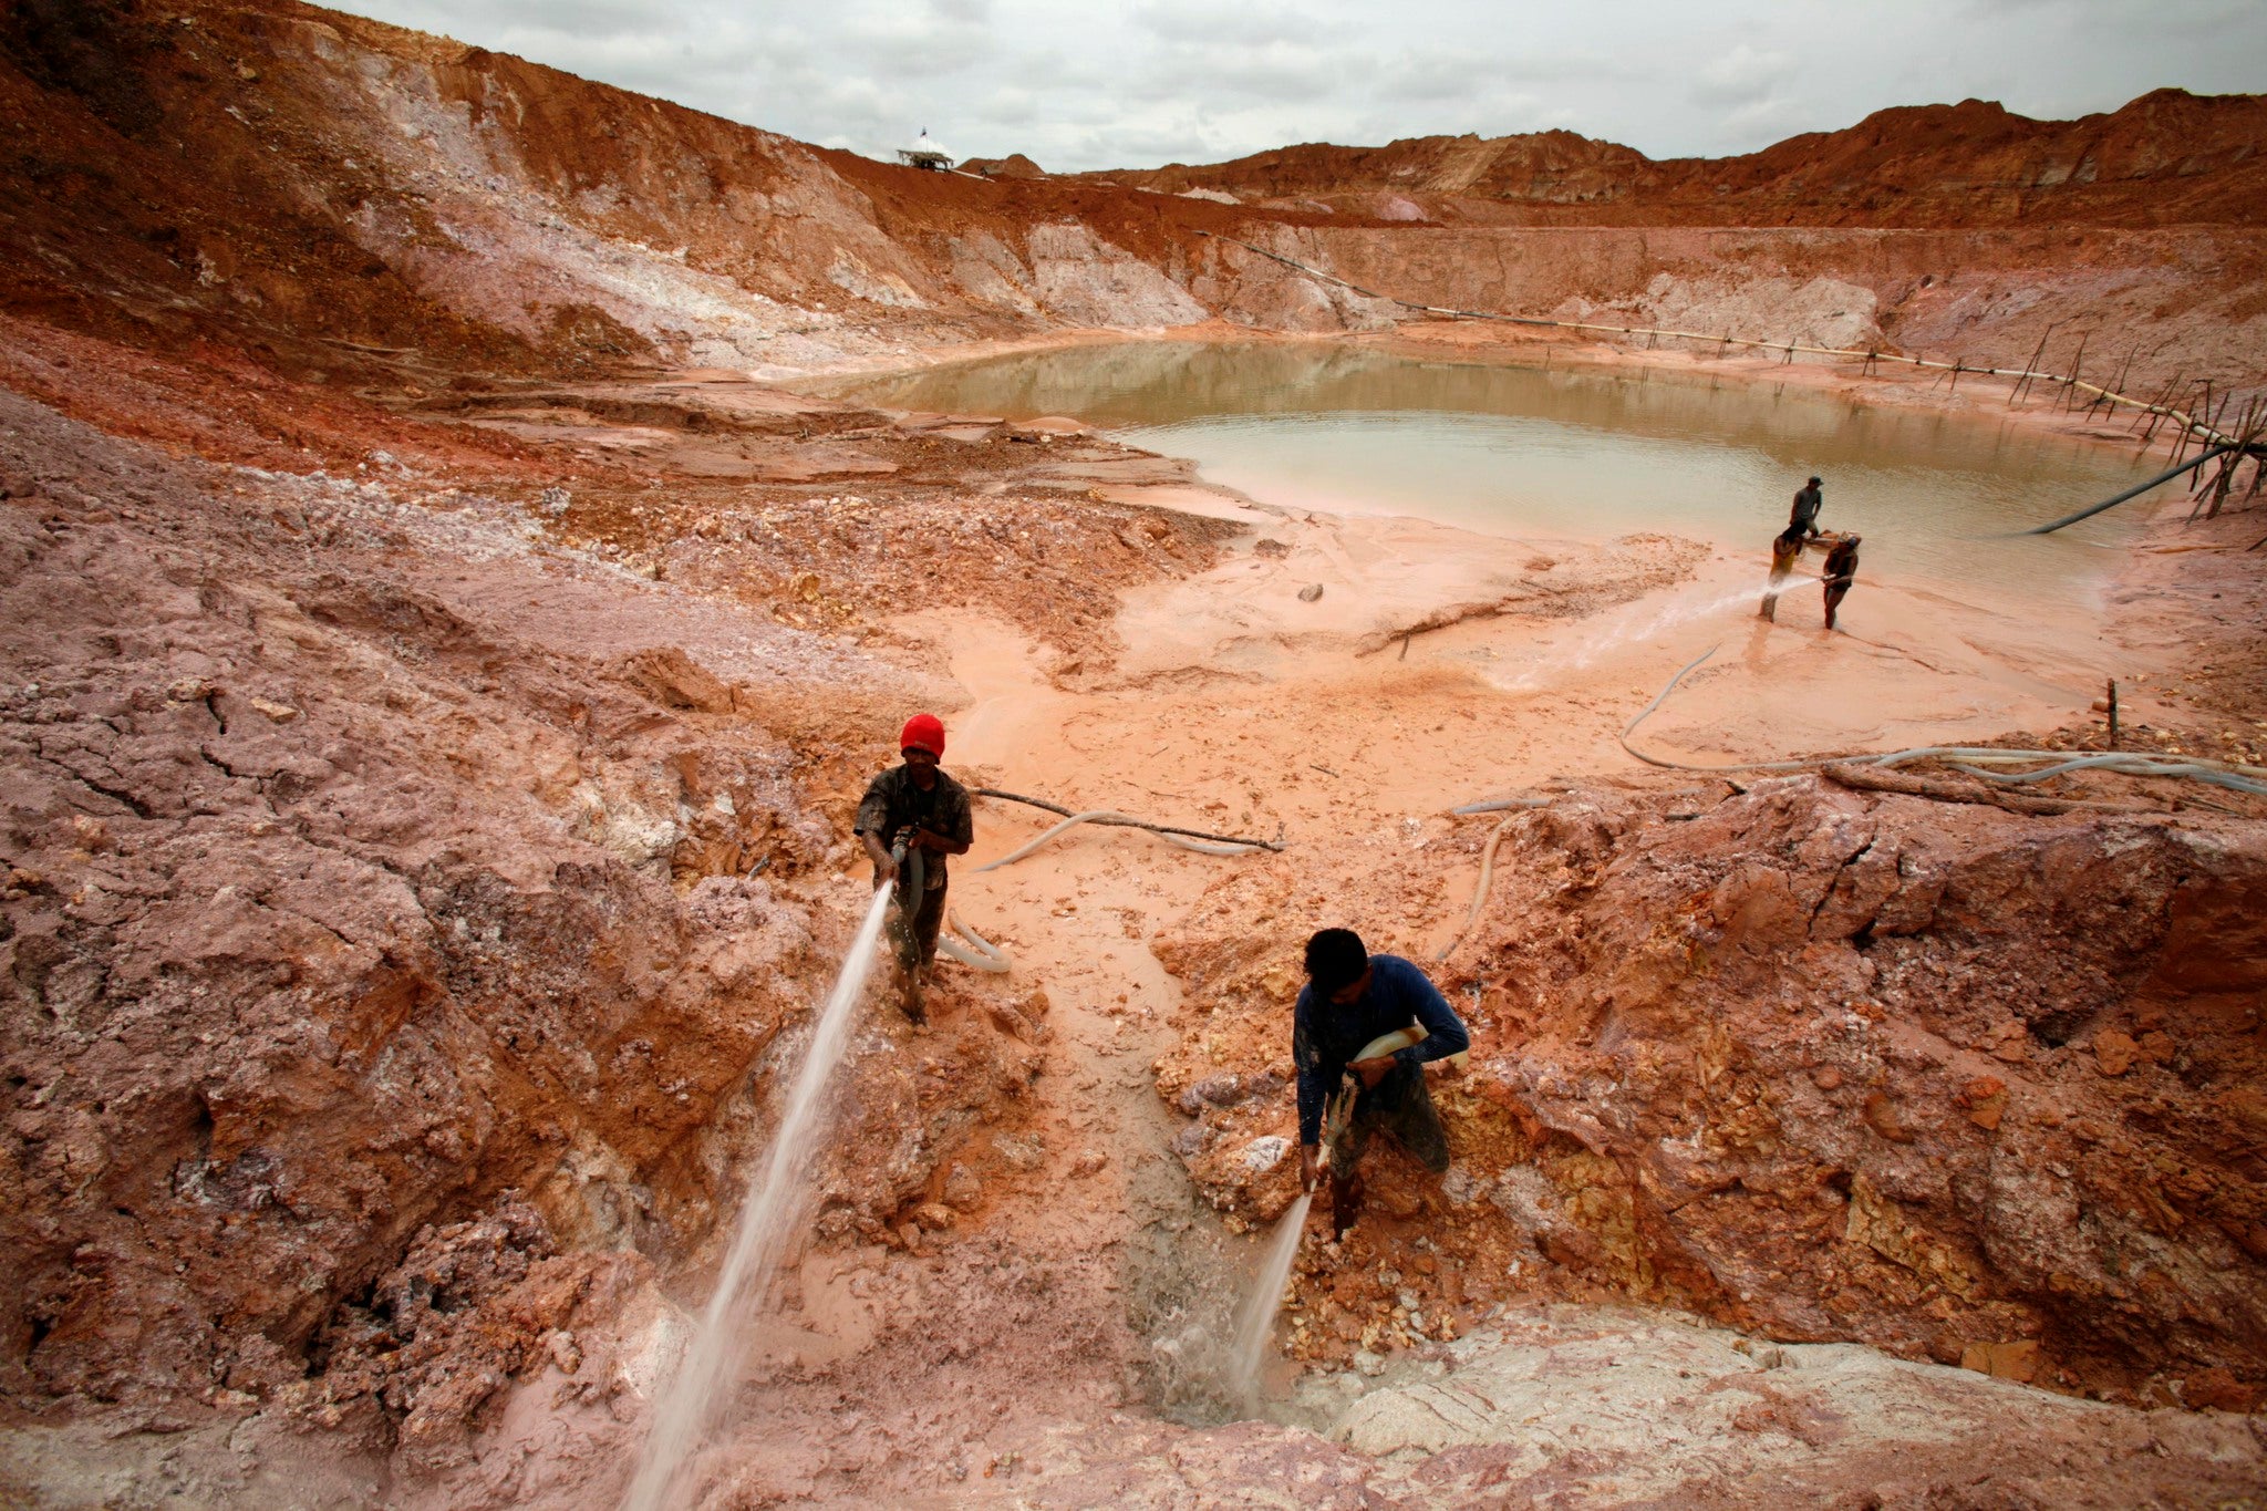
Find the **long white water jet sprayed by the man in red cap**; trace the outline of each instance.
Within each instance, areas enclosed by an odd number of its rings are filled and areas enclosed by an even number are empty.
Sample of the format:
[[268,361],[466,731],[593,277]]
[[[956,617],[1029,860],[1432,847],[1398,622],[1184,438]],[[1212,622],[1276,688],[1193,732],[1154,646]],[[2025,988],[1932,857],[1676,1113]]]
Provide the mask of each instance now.
[[621,1502],[623,1511],[660,1511],[664,1504],[676,1504],[669,1500],[671,1482],[714,1425],[725,1366],[739,1357],[748,1318],[805,1228],[805,1207],[814,1189],[809,1167],[818,1139],[821,1094],[850,1044],[852,1008],[866,990],[866,976],[873,974],[891,890],[884,886],[873,895],[873,908],[850,942],[834,994],[818,1015],[812,1044],[803,1053],[803,1069],[780,1115],[780,1130],[771,1139],[771,1155],[748,1185],[732,1248],[725,1253],[723,1273],[716,1275],[716,1294],[701,1314],[685,1361],[653,1407],[653,1429],[646,1434],[630,1493]]

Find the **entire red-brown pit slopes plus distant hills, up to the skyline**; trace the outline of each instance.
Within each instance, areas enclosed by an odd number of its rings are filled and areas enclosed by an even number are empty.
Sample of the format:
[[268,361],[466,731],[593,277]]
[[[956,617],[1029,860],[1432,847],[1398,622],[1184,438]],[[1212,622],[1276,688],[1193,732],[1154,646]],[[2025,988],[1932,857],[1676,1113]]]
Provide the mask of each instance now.
[[295,0],[63,9],[0,23],[0,104],[41,165],[0,183],[7,306],[292,376],[775,374],[1061,326],[1410,317],[1211,236],[1460,310],[1997,365],[2056,324],[2095,351],[2145,333],[2136,387],[2244,383],[2267,340],[2253,95],[1882,111],[1725,161],[1551,131],[977,181]]

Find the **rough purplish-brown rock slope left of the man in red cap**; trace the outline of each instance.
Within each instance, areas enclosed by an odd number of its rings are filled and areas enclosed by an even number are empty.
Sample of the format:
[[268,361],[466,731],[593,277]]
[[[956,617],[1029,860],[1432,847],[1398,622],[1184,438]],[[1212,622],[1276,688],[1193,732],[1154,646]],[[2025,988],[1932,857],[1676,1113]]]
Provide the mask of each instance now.
[[7,421],[0,1389],[306,1368],[508,1185],[578,1244],[698,1228],[694,1135],[825,985],[778,743],[657,693],[716,682],[676,646],[610,671],[637,630],[508,519],[440,566],[374,489]]

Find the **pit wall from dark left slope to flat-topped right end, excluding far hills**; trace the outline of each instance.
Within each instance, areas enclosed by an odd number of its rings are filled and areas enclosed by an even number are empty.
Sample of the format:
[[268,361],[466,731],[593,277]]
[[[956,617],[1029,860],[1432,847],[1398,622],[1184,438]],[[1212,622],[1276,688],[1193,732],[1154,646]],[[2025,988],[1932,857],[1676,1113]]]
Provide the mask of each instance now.
[[0,217],[11,297],[138,338],[227,333],[295,374],[388,351],[787,374],[1208,317],[1408,319],[1206,231],[1424,304],[1999,367],[2054,322],[2049,358],[2088,333],[2088,374],[2133,353],[2131,387],[2249,385],[2267,349],[2267,233],[2242,227],[1333,224],[905,170],[286,0],[93,5],[84,25],[84,54],[0,54],[0,97],[41,127]]

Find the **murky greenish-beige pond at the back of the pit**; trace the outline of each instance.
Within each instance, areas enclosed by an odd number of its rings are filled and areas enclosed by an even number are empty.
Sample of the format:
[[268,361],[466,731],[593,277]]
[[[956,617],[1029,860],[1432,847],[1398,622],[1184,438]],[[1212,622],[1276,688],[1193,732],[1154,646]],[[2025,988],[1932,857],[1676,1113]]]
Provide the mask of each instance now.
[[1662,530],[1757,555],[1793,492],[1866,537],[1863,569],[1943,587],[2083,594],[2142,510],[2004,539],[2149,473],[2131,446],[1798,385],[1662,372],[1417,362],[1331,342],[1124,342],[1018,353],[834,392],[909,410],[1077,415],[1263,503],[1412,514],[1492,535]]

